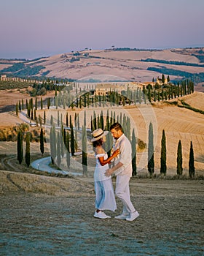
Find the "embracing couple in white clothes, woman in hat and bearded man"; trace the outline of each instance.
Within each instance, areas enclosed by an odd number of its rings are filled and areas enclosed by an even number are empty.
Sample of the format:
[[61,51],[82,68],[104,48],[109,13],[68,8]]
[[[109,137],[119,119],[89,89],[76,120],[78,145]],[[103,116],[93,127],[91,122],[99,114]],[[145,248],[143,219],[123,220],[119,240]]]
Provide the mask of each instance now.
[[[103,141],[108,131],[95,129],[93,131],[93,149],[95,151],[96,165],[94,173],[95,181],[95,218],[107,219],[103,210],[115,211],[117,209],[114,197],[114,189],[111,181],[111,174],[117,176],[115,195],[122,201],[122,214],[116,216],[116,219],[126,219],[133,221],[139,214],[130,200],[129,181],[132,176],[132,154],[130,141],[123,133],[119,123],[114,123],[110,127],[111,135],[115,140],[114,152],[108,158],[103,149]],[[114,166],[109,168],[111,160],[114,159]]]

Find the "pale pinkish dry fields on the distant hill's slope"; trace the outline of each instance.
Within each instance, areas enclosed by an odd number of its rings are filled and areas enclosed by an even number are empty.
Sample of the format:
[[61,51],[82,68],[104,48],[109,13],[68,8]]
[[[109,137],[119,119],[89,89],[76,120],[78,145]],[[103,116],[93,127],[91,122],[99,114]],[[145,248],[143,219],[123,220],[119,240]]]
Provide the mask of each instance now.
[[[184,50],[185,51],[185,50]],[[189,63],[199,63],[199,60],[192,56],[193,52],[183,52],[182,50],[160,50],[160,51],[110,51],[110,50],[90,50],[90,56],[93,58],[83,58],[80,61],[69,62],[71,59],[69,53],[67,58],[61,54],[51,56],[45,59],[43,63],[45,69],[49,70],[50,77],[57,78],[95,78],[100,77],[102,81],[106,76],[125,78],[126,80],[152,81],[152,78],[160,77],[160,72],[147,70],[148,67],[158,67],[158,63],[142,62],[141,59],[160,59],[167,61],[184,61]],[[94,58],[95,57],[95,58]],[[88,64],[89,63],[89,64]],[[41,65],[41,64],[40,64]],[[189,67],[173,64],[162,64],[162,67],[178,69],[190,73],[204,72],[203,67]],[[96,74],[96,75],[95,75]],[[170,76],[170,79],[176,79],[177,76]]]

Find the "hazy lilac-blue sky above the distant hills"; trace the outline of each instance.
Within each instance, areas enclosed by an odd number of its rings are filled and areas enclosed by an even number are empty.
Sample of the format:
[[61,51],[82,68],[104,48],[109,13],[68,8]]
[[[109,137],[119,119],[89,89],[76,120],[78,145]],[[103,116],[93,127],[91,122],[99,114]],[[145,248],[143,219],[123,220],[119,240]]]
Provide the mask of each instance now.
[[0,0],[0,59],[204,47],[203,0]]

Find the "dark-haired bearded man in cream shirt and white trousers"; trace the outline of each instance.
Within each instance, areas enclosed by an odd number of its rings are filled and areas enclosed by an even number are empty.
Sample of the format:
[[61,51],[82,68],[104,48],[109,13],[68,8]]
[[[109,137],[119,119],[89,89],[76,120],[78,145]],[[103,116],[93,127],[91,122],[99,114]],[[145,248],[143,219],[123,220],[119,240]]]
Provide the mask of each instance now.
[[112,124],[110,131],[115,139],[114,150],[119,148],[120,151],[114,161],[114,167],[109,168],[105,173],[106,176],[111,176],[113,173],[117,176],[115,194],[122,200],[123,211],[115,218],[133,221],[139,214],[130,200],[129,181],[132,176],[132,147],[119,123]]

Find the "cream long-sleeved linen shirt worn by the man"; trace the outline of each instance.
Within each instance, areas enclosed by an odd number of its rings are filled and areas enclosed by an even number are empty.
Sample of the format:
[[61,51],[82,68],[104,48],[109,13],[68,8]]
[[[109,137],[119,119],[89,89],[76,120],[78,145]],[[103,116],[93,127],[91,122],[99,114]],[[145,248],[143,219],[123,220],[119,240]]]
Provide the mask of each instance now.
[[115,140],[113,149],[119,148],[120,154],[115,158],[114,165],[121,162],[123,165],[114,171],[115,175],[127,175],[132,176],[132,146],[130,140],[127,139],[125,134],[122,134],[117,140]]

